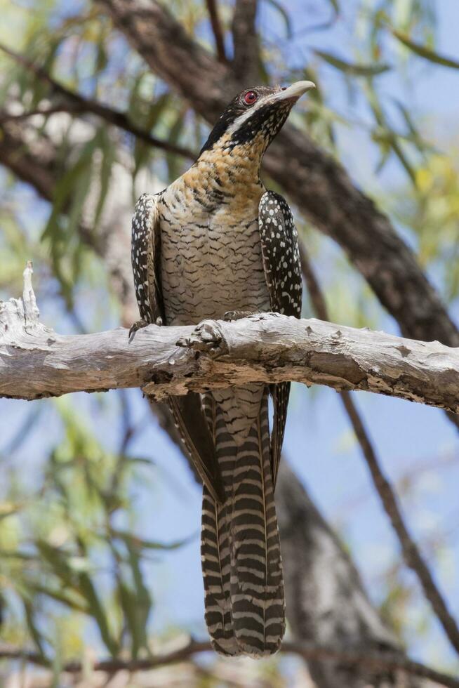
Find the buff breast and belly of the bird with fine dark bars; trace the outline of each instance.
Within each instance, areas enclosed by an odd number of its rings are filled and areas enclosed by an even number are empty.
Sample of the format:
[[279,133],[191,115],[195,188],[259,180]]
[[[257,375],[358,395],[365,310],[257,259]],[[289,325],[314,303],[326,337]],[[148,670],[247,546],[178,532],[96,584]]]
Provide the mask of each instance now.
[[[202,178],[202,175],[201,175]],[[229,310],[270,310],[258,203],[237,189],[196,192],[186,178],[161,199],[161,282],[166,322],[195,324]]]

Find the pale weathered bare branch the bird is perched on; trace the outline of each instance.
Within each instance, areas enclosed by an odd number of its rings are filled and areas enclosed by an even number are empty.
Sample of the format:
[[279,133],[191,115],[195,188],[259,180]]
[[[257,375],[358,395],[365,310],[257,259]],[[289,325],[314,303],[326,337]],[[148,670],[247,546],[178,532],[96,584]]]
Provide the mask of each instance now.
[[[27,275],[27,268],[25,270]],[[459,412],[459,351],[316,319],[260,314],[194,327],[61,336],[27,303],[0,304],[0,395],[141,387],[161,399],[249,382],[368,390]]]

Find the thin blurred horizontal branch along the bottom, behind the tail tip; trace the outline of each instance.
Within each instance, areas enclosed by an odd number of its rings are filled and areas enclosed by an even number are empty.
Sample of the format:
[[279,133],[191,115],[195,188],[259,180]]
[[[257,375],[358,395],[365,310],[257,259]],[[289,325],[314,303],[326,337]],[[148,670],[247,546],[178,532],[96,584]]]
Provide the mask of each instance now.
[[[149,657],[148,659],[106,659],[93,663],[94,671],[116,673],[117,671],[147,671],[160,666],[187,661],[195,654],[213,651],[210,642],[190,641],[185,647],[168,652],[167,654]],[[419,662],[404,659],[397,654],[383,652],[361,652],[352,649],[340,649],[326,647],[312,643],[284,642],[281,647],[282,654],[295,654],[307,661],[339,661],[347,666],[361,665],[385,672],[401,671],[408,675],[425,678],[437,682],[447,688],[459,688],[459,680],[443,672],[425,666]],[[22,659],[39,666],[50,667],[51,662],[43,659],[39,654],[24,651],[10,646],[0,646],[0,659]],[[80,673],[83,665],[79,661],[71,661],[62,668],[62,673]]]

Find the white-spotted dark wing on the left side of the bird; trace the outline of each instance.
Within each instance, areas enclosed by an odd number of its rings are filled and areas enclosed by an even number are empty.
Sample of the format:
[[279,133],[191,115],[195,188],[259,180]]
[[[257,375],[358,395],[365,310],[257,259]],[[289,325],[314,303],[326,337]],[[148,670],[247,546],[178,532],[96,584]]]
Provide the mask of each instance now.
[[[166,324],[161,291],[159,197],[160,194],[142,194],[135,205],[131,257],[140,317],[145,323]],[[199,477],[213,498],[221,501],[222,480],[213,440],[201,411],[201,397],[192,392],[184,397],[169,397],[168,406]]]

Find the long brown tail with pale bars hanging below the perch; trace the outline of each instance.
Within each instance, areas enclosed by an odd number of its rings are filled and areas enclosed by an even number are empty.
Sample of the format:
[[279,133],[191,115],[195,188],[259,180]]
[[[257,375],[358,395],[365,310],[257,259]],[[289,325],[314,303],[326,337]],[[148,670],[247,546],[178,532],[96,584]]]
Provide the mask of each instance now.
[[[232,394],[242,395],[244,402],[248,391],[233,388]],[[206,395],[204,400],[225,501],[215,503],[204,488],[201,561],[206,623],[214,649],[220,654],[261,657],[279,649],[285,631],[285,602],[267,390],[255,392],[257,413],[253,421],[244,418],[248,431],[242,438],[241,432],[234,432],[223,404],[215,400],[218,396]],[[244,403],[241,405],[244,408]],[[234,422],[237,425],[237,420]]]

